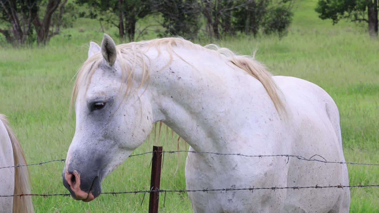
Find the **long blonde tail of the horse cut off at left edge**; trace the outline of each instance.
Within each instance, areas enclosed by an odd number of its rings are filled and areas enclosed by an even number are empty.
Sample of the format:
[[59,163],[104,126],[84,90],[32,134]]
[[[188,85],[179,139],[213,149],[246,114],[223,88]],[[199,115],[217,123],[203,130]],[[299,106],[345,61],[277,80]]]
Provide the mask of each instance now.
[[[25,155],[19,141],[9,126],[8,120],[0,114],[0,121],[3,122],[11,139],[13,148],[14,165],[25,165]],[[30,175],[27,166],[15,167],[14,169],[14,194],[30,194]],[[33,204],[30,196],[13,197],[13,213],[33,213]]]

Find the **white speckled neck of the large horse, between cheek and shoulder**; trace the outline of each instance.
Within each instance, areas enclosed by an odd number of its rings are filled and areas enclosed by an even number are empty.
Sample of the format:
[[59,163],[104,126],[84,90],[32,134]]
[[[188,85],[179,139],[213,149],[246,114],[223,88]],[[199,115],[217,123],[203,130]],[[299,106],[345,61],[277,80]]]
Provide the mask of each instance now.
[[[163,121],[194,150],[221,152],[219,143],[231,140],[225,133],[238,125],[232,108],[244,99],[246,85],[252,89],[259,81],[209,51],[175,52],[185,61],[173,56],[166,66],[165,54],[152,61],[148,90],[154,120]],[[249,80],[241,82],[244,78]]]

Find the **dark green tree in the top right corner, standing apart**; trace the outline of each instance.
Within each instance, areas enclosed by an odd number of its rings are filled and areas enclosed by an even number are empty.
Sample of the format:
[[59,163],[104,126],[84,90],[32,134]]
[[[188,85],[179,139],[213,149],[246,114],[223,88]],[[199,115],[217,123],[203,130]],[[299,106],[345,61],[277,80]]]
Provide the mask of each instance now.
[[377,37],[378,0],[319,0],[315,10],[321,19],[332,19],[333,24],[340,19],[366,22],[370,36]]

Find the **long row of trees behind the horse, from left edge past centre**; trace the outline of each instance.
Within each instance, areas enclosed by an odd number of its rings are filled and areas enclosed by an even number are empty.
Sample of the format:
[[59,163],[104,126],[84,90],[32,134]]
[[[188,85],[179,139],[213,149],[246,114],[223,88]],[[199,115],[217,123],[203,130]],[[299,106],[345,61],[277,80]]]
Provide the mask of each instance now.
[[[376,0],[377,1],[377,0]],[[79,17],[105,20],[118,28],[120,38],[135,39],[136,23],[155,14],[161,25],[160,36],[195,38],[205,17],[209,37],[233,35],[236,30],[254,36],[263,33],[285,34],[291,22],[293,0],[0,0],[0,33],[15,45],[45,44],[59,34],[60,27],[72,27]],[[78,12],[77,5],[86,5]],[[139,37],[139,36],[138,36]]]

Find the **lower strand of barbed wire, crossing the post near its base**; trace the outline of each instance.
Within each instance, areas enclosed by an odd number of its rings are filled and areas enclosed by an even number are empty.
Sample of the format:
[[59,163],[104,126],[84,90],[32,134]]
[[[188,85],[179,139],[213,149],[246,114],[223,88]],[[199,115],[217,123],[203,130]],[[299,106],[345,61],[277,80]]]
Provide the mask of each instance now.
[[[202,190],[135,190],[135,191],[123,191],[123,192],[102,192],[100,194],[138,194],[138,193],[152,193],[152,192],[158,192],[158,193],[166,193],[166,192],[211,192],[211,191],[252,191],[254,190],[283,190],[283,189],[291,189],[291,190],[300,190],[300,189],[309,189],[309,188],[315,188],[315,189],[322,189],[322,188],[361,188],[361,187],[379,187],[379,185],[335,185],[335,186],[291,186],[291,187],[258,187],[256,188],[255,186],[249,188],[222,188],[222,189],[202,189]],[[66,194],[13,194],[13,195],[0,195],[0,197],[22,197],[22,196],[43,196],[43,197],[49,197],[49,196],[69,196],[69,193]]]

